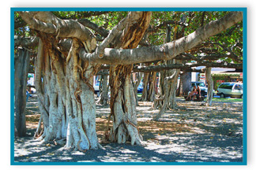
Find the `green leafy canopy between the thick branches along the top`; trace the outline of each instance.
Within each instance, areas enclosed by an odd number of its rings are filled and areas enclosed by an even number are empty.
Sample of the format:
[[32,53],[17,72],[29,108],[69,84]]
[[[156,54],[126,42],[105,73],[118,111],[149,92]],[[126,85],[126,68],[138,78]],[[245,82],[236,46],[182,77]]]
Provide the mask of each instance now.
[[[83,19],[106,30],[111,30],[126,17],[128,11],[53,11],[56,17],[61,19]],[[149,46],[160,45],[166,42],[167,28],[171,29],[171,40],[189,35],[211,20],[224,17],[228,11],[153,11],[149,34],[146,43]],[[36,35],[21,19],[18,13],[14,13],[15,35],[28,37]],[[180,24],[182,23],[182,24]],[[18,27],[21,25],[21,27]],[[95,31],[91,30],[96,33]],[[243,61],[243,22],[235,24],[232,28],[215,35],[196,48],[187,51],[194,56],[209,54],[230,55],[232,57],[220,58],[221,61],[238,63]],[[234,59],[235,58],[235,59]],[[190,61],[186,61],[190,62]]]

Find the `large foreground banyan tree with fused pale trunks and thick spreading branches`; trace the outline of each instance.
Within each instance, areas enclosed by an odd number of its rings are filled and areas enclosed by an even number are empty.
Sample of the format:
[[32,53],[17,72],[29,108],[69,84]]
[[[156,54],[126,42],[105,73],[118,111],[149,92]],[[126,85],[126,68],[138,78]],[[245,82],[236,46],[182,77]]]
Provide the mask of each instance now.
[[[92,79],[102,65],[109,65],[111,114],[108,120],[112,120],[112,126],[107,127],[106,139],[141,145],[143,139],[137,128],[136,98],[130,79],[134,65],[155,61],[179,64],[179,60],[173,61],[179,54],[243,20],[242,12],[224,13],[216,20],[205,21],[187,35],[175,35],[175,39],[168,42],[164,42],[164,38],[160,44],[153,44],[149,37],[161,27],[152,24],[156,23],[159,15],[156,14],[150,11],[67,14],[17,11],[17,21],[37,39],[35,84],[43,128],[39,124],[36,137],[46,142],[54,139],[57,143],[65,142],[66,148],[81,151],[100,148]],[[186,20],[168,24],[186,25]],[[177,79],[179,71],[175,68],[168,72],[164,81],[174,76]]]

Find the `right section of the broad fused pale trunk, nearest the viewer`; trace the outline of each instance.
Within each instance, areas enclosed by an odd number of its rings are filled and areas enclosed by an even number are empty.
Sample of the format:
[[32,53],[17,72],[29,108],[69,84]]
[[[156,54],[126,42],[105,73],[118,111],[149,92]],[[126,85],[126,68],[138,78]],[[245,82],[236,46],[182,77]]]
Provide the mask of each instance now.
[[70,61],[66,65],[66,111],[69,120],[66,147],[86,151],[100,147],[92,86],[97,66],[82,62],[77,56],[78,48],[79,43],[73,39]]

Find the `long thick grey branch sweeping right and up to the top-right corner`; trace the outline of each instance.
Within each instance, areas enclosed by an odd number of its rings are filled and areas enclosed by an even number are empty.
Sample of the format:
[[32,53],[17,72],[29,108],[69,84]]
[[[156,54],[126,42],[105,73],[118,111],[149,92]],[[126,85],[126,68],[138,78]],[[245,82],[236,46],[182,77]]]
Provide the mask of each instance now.
[[102,58],[94,53],[88,54],[85,50],[80,50],[79,56],[86,61],[108,65],[113,63],[116,65],[130,65],[147,61],[170,60],[178,54],[192,49],[205,39],[230,28],[241,20],[243,20],[243,12],[231,12],[220,20],[211,21],[204,27],[198,28],[190,35],[165,43],[164,45],[141,47],[131,50],[106,48]]

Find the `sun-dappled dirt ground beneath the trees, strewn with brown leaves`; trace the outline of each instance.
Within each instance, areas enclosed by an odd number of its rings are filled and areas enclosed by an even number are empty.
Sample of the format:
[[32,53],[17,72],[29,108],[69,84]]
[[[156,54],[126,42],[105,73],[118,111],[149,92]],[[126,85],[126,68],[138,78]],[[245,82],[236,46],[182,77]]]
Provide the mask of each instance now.
[[186,109],[168,110],[159,121],[152,102],[139,102],[138,128],[145,146],[105,142],[109,105],[96,105],[96,131],[103,149],[86,153],[65,150],[32,139],[40,119],[36,97],[27,104],[27,137],[15,139],[15,162],[242,162],[243,102],[185,102]]

